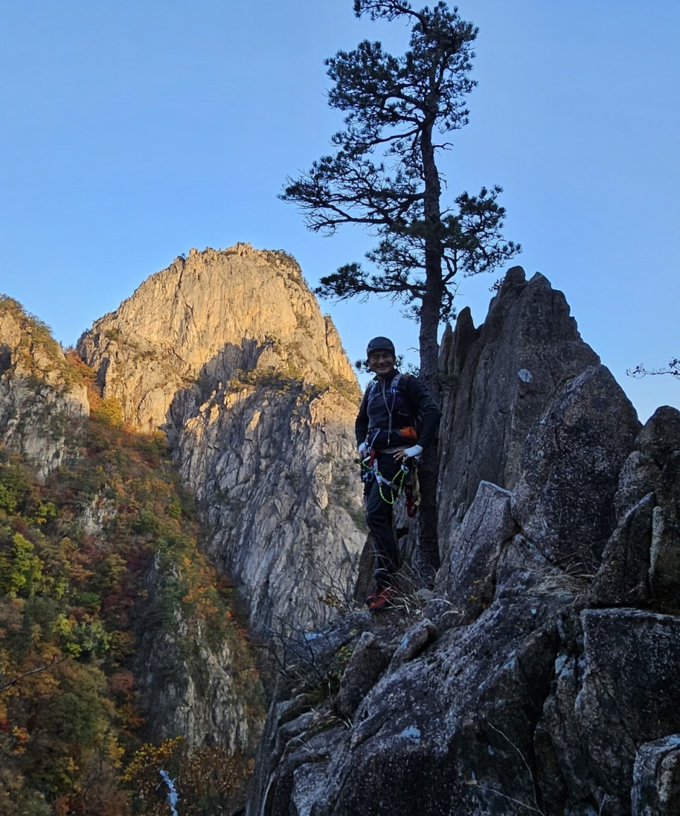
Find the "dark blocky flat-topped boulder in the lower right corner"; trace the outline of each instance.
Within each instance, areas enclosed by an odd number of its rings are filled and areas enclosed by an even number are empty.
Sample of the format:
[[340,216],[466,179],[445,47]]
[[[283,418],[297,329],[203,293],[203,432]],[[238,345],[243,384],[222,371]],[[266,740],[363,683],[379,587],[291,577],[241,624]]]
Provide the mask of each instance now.
[[578,639],[560,651],[537,730],[542,756],[554,758],[540,764],[552,767],[541,789],[551,813],[591,800],[602,814],[625,816],[638,746],[680,725],[680,619],[633,609],[584,610],[580,619],[582,651]]

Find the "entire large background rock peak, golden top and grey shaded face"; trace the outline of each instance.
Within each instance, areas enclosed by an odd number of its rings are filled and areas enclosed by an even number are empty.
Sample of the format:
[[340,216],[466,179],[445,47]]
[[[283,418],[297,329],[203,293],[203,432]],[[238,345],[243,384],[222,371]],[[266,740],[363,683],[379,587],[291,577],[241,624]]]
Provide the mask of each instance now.
[[251,626],[327,621],[366,539],[359,395],[296,262],[247,244],[192,250],[97,321],[78,351],[127,422],[167,432],[208,552],[237,582]]

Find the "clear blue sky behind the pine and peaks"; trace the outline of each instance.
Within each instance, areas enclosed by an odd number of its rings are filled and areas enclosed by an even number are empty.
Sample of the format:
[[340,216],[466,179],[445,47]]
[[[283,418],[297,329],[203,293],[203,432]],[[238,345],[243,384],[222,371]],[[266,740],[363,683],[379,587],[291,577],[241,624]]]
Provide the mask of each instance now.
[[[516,262],[565,293],[641,419],[678,406],[680,382],[625,370],[680,355],[680,3],[458,6],[480,33],[451,197],[503,186]],[[307,232],[277,194],[340,127],[324,58],[401,52],[403,24],[352,0],[0,0],[0,37],[0,292],[62,344],[191,247],[283,249],[313,285],[371,246]],[[477,324],[500,274],[461,282]],[[397,307],[322,309],[350,359],[386,334],[416,360]]]

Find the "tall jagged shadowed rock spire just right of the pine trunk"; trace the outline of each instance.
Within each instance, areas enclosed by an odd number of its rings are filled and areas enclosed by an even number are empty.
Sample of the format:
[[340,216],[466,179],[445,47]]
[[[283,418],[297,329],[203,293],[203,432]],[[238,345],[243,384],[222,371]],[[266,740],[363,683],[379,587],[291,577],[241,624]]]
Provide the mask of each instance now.
[[480,481],[515,486],[527,433],[558,384],[599,361],[562,292],[539,273],[527,282],[521,267],[510,269],[478,329],[463,309],[442,339],[442,526],[469,508]]

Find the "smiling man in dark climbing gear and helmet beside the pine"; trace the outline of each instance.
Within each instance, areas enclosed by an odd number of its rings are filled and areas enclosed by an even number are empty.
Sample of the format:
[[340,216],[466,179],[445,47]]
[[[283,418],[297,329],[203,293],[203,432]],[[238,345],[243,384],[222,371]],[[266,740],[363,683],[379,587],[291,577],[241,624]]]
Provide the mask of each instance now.
[[363,396],[355,424],[362,459],[366,521],[373,534],[376,585],[367,598],[371,610],[389,604],[397,589],[397,539],[392,507],[410,478],[409,467],[424,447],[435,444],[441,411],[420,381],[394,367],[392,340],[375,337],[368,344],[368,367],[376,375]]

